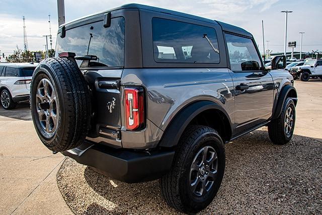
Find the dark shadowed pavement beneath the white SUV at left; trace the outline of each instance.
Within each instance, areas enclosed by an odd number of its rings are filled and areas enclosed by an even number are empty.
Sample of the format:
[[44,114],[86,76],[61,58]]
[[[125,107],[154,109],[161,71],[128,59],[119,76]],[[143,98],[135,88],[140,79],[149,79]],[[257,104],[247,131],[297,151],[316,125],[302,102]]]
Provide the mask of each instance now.
[[20,120],[32,120],[29,102],[18,103],[17,107],[12,110],[6,110],[0,106],[0,116]]

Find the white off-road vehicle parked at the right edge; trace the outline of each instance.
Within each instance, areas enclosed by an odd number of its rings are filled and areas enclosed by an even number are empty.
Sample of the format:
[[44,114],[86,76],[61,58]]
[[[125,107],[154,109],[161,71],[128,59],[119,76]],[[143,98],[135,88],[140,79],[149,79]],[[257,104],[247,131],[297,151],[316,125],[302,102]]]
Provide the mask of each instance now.
[[307,82],[310,78],[322,79],[322,59],[307,59],[301,66],[291,68],[290,74],[294,79]]

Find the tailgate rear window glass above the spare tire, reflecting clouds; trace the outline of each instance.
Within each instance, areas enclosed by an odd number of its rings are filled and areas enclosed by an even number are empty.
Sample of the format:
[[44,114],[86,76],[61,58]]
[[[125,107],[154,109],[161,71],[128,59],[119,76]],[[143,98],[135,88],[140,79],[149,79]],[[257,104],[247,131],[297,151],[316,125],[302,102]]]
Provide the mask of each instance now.
[[[68,51],[76,55],[95,55],[98,59],[91,60],[93,66],[123,66],[124,65],[124,32],[123,17],[111,19],[111,26],[103,27],[103,21],[79,26],[66,30],[66,36],[57,36],[56,57],[59,53]],[[82,60],[76,60],[78,66]]]

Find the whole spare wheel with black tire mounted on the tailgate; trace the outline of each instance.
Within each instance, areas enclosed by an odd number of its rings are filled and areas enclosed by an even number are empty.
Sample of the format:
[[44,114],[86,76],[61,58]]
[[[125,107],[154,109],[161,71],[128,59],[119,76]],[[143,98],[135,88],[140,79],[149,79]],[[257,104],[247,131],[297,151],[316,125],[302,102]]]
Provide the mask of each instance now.
[[37,66],[30,104],[34,126],[48,149],[63,152],[82,144],[90,127],[90,92],[72,61],[47,58]]

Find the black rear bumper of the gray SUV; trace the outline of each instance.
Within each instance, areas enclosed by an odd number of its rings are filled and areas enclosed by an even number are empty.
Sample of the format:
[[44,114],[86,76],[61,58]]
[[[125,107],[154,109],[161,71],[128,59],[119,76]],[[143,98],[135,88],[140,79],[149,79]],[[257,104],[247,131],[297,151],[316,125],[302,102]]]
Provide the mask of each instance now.
[[111,178],[126,183],[138,183],[155,180],[167,174],[175,152],[112,149],[85,141],[81,146],[62,154],[80,164],[104,171]]

